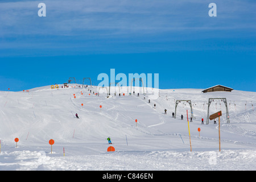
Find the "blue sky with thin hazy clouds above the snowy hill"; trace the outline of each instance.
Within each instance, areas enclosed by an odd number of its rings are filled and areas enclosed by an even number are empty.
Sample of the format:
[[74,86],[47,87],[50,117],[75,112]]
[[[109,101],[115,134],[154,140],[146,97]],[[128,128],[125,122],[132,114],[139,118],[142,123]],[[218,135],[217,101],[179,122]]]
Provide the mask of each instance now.
[[[44,2],[46,17],[38,16]],[[209,3],[217,5],[210,17]],[[100,73],[159,73],[159,88],[256,91],[255,1],[0,1],[0,90]]]

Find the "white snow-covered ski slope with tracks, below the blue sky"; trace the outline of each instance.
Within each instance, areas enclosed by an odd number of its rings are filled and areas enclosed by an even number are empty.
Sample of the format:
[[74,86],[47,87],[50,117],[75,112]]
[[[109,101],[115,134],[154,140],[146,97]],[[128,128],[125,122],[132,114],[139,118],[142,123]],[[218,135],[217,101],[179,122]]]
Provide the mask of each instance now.
[[[106,93],[93,94],[98,92],[97,86],[89,88],[91,93],[75,84],[59,86],[0,92],[0,170],[256,169],[255,92],[160,89],[159,97],[147,94],[144,100],[142,93],[107,98]],[[226,122],[224,102],[210,105],[210,114],[222,110],[221,151],[218,125],[213,121],[206,125],[209,98],[228,101],[230,123]],[[181,102],[176,119],[172,118],[176,100],[192,101],[191,146],[190,107]],[[107,152],[108,137],[114,152]],[[50,139],[55,140],[52,151]]]

